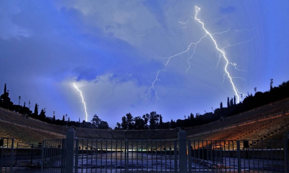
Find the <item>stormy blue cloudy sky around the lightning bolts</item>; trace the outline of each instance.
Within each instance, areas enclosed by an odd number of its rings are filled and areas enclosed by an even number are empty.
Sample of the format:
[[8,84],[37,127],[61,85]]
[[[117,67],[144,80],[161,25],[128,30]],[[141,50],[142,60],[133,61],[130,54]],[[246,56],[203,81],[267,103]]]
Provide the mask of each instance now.
[[218,47],[233,45],[223,50],[240,99],[289,80],[288,1],[1,1],[0,86],[14,104],[20,95],[82,121],[75,83],[88,121],[97,114],[112,127],[129,112],[163,121],[211,112],[236,93],[195,6]]

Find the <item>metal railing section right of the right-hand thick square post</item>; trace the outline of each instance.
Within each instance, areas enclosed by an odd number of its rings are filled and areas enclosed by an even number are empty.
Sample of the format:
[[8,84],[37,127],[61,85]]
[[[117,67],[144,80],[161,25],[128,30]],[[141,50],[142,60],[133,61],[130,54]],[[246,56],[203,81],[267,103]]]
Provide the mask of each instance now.
[[189,172],[288,172],[285,140],[188,141]]

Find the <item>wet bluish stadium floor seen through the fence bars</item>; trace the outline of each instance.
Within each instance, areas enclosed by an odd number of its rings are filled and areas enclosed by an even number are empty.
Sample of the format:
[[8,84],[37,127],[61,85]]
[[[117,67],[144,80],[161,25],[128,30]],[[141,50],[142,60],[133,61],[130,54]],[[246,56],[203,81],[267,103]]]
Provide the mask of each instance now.
[[[192,159],[192,172],[237,172],[236,158],[223,157],[223,163],[212,166],[210,161]],[[57,168],[61,158],[53,161],[53,168],[44,169],[43,173],[60,172]],[[37,164],[36,164],[37,165]],[[175,158],[169,155],[156,155],[147,153],[97,153],[93,155],[78,155],[77,172],[174,172]],[[218,170],[216,170],[218,168]],[[241,159],[241,172],[284,172],[282,160]],[[222,169],[222,170],[220,170]],[[255,171],[254,171],[255,170]],[[41,169],[14,167],[12,173],[40,173]],[[0,168],[0,173],[10,173],[9,168]]]

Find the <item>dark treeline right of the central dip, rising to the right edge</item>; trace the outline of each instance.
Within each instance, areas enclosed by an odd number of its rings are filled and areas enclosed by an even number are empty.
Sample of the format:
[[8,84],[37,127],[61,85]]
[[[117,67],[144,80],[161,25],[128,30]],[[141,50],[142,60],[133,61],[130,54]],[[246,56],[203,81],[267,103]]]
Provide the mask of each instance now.
[[190,115],[184,116],[184,119],[171,120],[170,122],[163,122],[162,116],[154,111],[135,118],[133,118],[131,113],[127,113],[126,116],[122,117],[121,123],[117,122],[115,129],[164,129],[197,126],[289,97],[289,81],[283,82],[278,87],[273,87],[273,79],[270,79],[270,81],[269,91],[260,92],[255,87],[255,95],[253,96],[252,93],[247,93],[245,96],[241,95],[242,99],[244,96],[244,100],[240,103],[236,103],[236,96],[231,99],[227,97],[227,107],[223,107],[223,103],[221,102],[220,108],[215,109],[213,112],[205,114],[196,113],[195,115],[190,113]]

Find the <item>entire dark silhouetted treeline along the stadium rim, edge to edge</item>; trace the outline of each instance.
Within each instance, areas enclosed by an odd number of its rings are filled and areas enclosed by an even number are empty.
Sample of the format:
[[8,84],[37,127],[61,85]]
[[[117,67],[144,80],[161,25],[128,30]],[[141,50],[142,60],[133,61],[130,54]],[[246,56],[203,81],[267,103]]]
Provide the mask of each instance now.
[[[220,103],[220,107],[215,109],[212,112],[205,114],[190,113],[188,116],[184,116],[184,119],[171,120],[168,122],[163,122],[163,117],[161,114],[157,114],[155,111],[146,113],[142,116],[133,117],[131,113],[127,113],[126,116],[122,117],[121,123],[117,122],[115,129],[126,129],[126,130],[142,130],[142,129],[167,129],[167,128],[176,128],[176,127],[190,127],[206,124],[212,121],[219,120],[221,117],[228,117],[235,115],[255,107],[268,104],[273,101],[277,101],[283,98],[289,97],[289,81],[283,82],[278,87],[273,87],[273,79],[270,79],[270,90],[265,92],[257,91],[257,88],[254,88],[255,94],[252,93],[247,95],[241,95],[241,98],[244,100],[240,103],[236,103],[236,97],[233,96],[231,99],[227,97],[227,107],[223,107],[223,103]],[[32,112],[24,102],[23,106],[19,104],[13,104],[9,98],[9,90],[6,89],[6,84],[4,85],[4,93],[0,96],[0,107],[9,109],[11,111],[27,115],[29,117],[39,119],[44,122],[62,125],[62,126],[76,126],[83,128],[99,128],[99,129],[110,129],[108,123],[102,121],[96,114],[92,118],[91,122],[85,122],[83,120],[80,122],[70,121],[70,118],[67,118],[67,115],[63,115],[62,120],[55,119],[54,112],[53,118],[47,117],[45,115],[45,108],[40,110],[38,113],[38,106],[35,104],[34,112]],[[30,103],[29,103],[30,106]],[[27,117],[26,116],[26,117]]]

